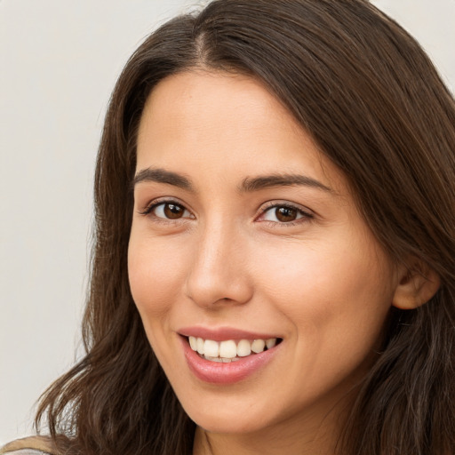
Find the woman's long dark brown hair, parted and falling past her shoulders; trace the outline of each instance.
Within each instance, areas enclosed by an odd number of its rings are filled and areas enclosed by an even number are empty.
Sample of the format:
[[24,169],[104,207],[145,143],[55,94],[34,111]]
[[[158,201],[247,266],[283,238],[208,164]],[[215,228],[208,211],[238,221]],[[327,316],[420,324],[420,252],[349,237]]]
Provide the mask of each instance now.
[[132,55],[96,168],[86,355],[44,394],[36,426],[46,418],[68,454],[192,451],[195,424],[148,344],[126,259],[142,109],[160,80],[192,68],[262,80],[344,172],[390,257],[441,277],[426,305],[391,310],[339,453],[455,453],[454,100],[419,44],[364,0],[215,0]]

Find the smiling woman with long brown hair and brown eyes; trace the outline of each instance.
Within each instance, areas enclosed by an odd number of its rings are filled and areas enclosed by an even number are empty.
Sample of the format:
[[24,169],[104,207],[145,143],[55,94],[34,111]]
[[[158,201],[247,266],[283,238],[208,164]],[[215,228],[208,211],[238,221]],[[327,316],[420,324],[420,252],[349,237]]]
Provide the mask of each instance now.
[[451,94],[363,0],[158,29],[110,103],[87,355],[36,448],[453,453],[454,144]]

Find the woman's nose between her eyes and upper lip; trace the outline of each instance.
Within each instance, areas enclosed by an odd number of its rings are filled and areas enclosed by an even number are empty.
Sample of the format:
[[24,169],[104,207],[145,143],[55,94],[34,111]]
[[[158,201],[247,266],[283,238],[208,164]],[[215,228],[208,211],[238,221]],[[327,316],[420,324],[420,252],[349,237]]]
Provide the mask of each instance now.
[[198,306],[214,309],[251,299],[247,240],[238,229],[221,224],[207,226],[197,236],[194,251],[186,294]]

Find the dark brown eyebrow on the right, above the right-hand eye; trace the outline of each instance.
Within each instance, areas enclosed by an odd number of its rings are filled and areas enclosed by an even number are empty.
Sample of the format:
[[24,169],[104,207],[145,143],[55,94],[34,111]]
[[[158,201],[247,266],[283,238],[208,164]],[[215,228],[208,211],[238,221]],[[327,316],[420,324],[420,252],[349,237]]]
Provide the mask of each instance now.
[[239,190],[243,193],[267,188],[291,187],[293,185],[316,188],[329,193],[335,193],[333,188],[327,187],[319,180],[299,174],[271,174],[259,177],[247,177],[246,179],[243,179]]

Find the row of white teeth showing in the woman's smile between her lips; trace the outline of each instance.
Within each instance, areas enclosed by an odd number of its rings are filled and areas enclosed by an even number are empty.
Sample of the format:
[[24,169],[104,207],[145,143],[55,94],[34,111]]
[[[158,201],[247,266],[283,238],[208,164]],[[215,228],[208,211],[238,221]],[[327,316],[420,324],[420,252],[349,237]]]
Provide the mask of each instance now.
[[188,337],[188,343],[193,351],[210,362],[230,363],[241,360],[244,357],[260,354],[280,344],[282,339],[227,339],[215,341]]

